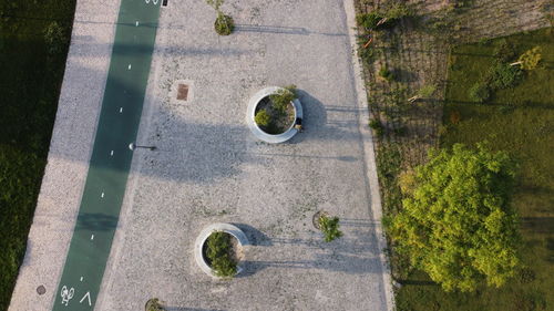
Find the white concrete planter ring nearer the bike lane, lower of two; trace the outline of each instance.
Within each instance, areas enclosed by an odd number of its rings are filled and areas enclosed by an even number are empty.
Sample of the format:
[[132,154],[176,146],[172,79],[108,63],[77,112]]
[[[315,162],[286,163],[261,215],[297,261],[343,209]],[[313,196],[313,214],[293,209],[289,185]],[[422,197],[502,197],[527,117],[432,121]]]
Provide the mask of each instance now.
[[[243,232],[243,230],[230,224],[212,224],[202,230],[202,232],[196,238],[196,242],[194,243],[194,259],[196,260],[198,267],[201,267],[202,271],[213,278],[219,279],[219,277],[215,274],[214,270],[212,270],[212,268],[204,259],[204,256],[202,255],[204,243],[206,242],[209,235],[215,231],[223,231],[225,234],[232,235],[235,239],[237,239],[238,247],[243,250],[245,249],[245,247],[249,246],[250,242],[248,241],[248,238]],[[243,271],[243,268],[238,265],[237,274],[240,273],[240,271]]]

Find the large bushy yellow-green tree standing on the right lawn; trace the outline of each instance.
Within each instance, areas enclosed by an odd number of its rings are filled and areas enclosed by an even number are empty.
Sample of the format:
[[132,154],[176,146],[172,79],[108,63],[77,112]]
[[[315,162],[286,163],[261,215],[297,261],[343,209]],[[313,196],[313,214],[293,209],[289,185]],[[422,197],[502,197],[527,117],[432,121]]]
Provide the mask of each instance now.
[[475,151],[456,144],[429,158],[390,225],[396,250],[447,291],[504,284],[520,265],[510,206],[515,163],[482,144]]

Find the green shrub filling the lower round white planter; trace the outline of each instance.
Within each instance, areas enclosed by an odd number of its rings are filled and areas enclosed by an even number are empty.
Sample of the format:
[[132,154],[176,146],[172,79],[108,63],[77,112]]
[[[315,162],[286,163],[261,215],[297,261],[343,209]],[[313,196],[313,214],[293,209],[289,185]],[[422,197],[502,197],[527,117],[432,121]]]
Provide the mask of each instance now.
[[215,231],[206,239],[202,252],[215,274],[232,278],[237,273],[237,240],[229,234]]

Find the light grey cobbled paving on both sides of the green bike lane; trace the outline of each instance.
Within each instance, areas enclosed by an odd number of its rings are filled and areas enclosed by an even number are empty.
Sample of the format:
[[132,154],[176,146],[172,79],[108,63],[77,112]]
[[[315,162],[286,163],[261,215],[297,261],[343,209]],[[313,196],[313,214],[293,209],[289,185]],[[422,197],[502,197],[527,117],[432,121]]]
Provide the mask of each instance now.
[[[345,2],[228,0],[222,9],[237,29],[218,37],[204,1],[170,0],[138,136],[158,149],[135,153],[96,310],[142,310],[152,297],[170,311],[392,310],[367,104],[352,65],[353,9]],[[78,20],[106,23],[75,23],[10,310],[51,307],[102,100],[107,20],[116,12],[113,3],[78,3]],[[80,40],[86,53],[79,54]],[[173,99],[178,80],[189,83],[186,102]],[[249,96],[291,83],[306,131],[281,145],[256,141],[246,125]],[[339,216],[345,236],[324,242],[311,225],[317,210]],[[254,243],[234,280],[213,280],[194,261],[196,236],[213,222],[239,226]],[[50,291],[39,297],[42,283]]]

